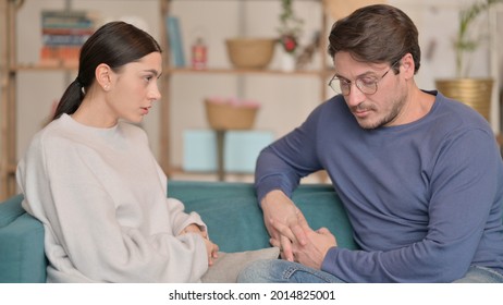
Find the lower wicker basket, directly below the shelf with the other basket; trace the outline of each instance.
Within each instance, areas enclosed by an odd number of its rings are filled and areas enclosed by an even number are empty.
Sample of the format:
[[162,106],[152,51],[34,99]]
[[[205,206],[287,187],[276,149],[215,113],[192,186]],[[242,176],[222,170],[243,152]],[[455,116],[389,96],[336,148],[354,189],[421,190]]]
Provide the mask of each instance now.
[[206,117],[213,130],[249,130],[254,126],[257,107],[212,102],[205,99]]

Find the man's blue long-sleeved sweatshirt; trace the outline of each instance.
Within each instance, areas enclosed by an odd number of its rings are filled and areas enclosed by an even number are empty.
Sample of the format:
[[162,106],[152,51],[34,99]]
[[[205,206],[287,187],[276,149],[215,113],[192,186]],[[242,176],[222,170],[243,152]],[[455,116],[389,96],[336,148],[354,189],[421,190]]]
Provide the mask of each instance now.
[[[320,105],[257,161],[259,200],[291,196],[324,169],[360,251],[321,269],[347,282],[451,282],[470,265],[503,272],[503,163],[488,122],[440,93],[413,123],[364,130],[342,96]],[[315,228],[317,229],[317,228]]]

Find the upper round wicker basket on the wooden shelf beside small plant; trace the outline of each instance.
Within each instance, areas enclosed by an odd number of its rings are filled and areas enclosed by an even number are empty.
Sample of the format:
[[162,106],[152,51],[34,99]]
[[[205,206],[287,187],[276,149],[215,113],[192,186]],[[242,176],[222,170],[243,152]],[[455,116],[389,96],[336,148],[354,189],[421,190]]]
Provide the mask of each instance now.
[[232,38],[225,44],[235,68],[265,69],[271,62],[275,41],[270,38]]

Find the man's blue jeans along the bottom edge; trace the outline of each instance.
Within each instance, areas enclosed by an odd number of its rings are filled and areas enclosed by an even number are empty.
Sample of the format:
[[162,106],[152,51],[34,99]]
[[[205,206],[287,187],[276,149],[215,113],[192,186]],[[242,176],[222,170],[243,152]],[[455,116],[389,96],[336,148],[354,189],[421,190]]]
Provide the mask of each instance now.
[[[344,283],[331,273],[283,259],[257,260],[244,268],[240,283]],[[503,283],[503,274],[484,267],[471,266],[455,283]]]

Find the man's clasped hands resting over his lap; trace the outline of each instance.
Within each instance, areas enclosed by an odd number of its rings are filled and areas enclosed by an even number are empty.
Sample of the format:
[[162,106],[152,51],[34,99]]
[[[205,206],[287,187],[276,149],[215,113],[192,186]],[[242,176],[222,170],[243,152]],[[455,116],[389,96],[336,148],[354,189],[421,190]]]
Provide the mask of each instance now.
[[303,212],[281,191],[272,191],[263,198],[262,210],[270,243],[280,247],[281,257],[321,269],[328,251],[338,245],[335,236],[327,228],[312,230]]

